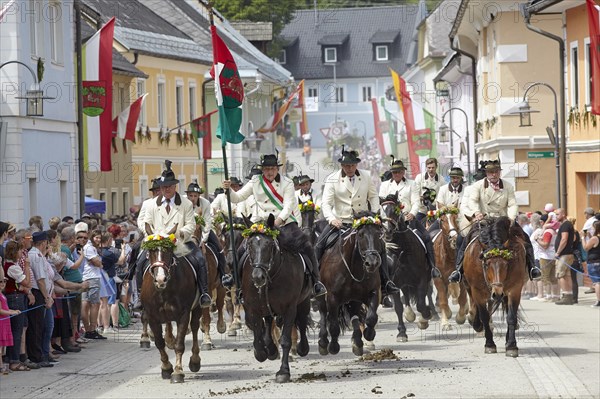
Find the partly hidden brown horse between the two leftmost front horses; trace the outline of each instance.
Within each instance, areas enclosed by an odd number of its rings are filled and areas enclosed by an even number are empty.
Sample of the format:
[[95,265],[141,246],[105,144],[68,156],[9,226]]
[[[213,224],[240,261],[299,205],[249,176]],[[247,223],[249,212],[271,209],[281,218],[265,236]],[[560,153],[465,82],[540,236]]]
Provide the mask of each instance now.
[[[194,238],[200,242],[202,240],[202,225],[197,224],[196,230],[194,231]],[[208,292],[213,298],[213,304],[217,311],[217,332],[219,334],[225,333],[227,327],[225,320],[223,320],[223,305],[225,304],[225,287],[221,284],[218,270],[218,259],[217,254],[214,250],[206,245],[202,245],[202,254],[206,259],[206,270],[208,273]],[[204,333],[202,339],[202,350],[211,350],[213,348],[212,338],[210,336],[210,308],[202,309],[202,332]]]

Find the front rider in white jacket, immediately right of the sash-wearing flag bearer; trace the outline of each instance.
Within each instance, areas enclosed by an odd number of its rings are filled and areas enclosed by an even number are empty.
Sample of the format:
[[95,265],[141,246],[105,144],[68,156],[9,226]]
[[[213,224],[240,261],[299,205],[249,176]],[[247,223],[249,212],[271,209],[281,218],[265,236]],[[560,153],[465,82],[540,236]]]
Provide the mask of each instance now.
[[[321,211],[329,224],[321,233],[315,246],[317,260],[321,260],[323,256],[328,236],[344,224],[351,225],[354,213],[368,211],[369,204],[372,212],[379,212],[377,189],[369,172],[357,169],[360,162],[358,153],[345,151],[342,146],[342,156],[338,162],[342,165],[342,169],[329,175],[323,188]],[[389,278],[385,249],[380,255],[381,287],[382,291],[389,295],[397,292],[398,287]]]

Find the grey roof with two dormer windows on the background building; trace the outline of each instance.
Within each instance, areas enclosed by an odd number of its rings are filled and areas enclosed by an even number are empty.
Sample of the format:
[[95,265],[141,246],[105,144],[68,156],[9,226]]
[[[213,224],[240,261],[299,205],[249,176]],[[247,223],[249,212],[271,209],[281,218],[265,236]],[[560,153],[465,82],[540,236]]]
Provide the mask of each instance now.
[[[322,46],[339,46],[338,78],[389,76],[389,68],[402,74],[416,23],[418,5],[299,10],[281,32],[288,42],[285,67],[296,80],[331,78],[322,58]],[[381,41],[380,41],[381,40]],[[390,46],[389,61],[375,61],[375,44]]]

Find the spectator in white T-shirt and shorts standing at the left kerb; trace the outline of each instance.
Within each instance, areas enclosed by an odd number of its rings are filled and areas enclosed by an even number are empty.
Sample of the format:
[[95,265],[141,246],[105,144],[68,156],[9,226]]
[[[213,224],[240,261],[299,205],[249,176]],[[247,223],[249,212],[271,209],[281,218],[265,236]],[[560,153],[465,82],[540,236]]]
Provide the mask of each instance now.
[[98,311],[100,309],[100,273],[102,258],[98,254],[102,233],[93,230],[90,240],[83,247],[83,281],[87,281],[89,290],[81,295],[81,319],[85,328],[84,337],[87,339],[106,339],[96,331]]

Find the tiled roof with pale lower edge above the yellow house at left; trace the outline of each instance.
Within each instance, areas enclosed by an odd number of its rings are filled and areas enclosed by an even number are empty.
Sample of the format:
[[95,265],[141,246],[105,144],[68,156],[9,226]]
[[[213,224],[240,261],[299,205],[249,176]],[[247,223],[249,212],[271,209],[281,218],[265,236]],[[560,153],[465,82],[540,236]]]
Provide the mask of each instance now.
[[103,21],[115,19],[115,40],[140,54],[210,65],[212,52],[192,40],[142,2],[84,0]]

